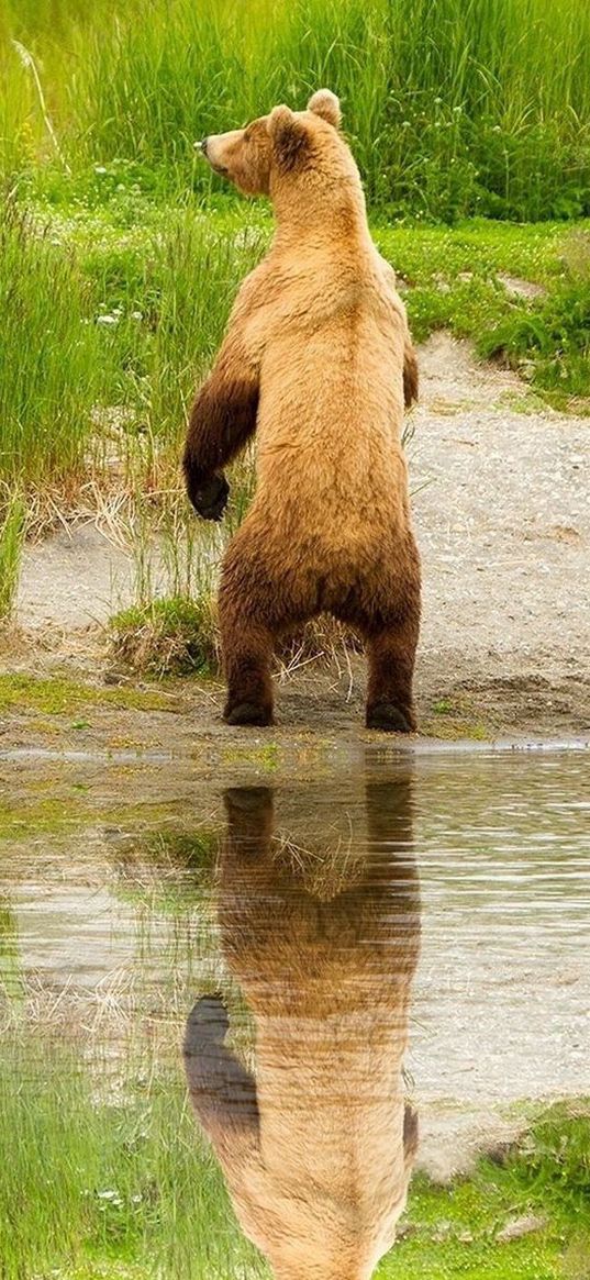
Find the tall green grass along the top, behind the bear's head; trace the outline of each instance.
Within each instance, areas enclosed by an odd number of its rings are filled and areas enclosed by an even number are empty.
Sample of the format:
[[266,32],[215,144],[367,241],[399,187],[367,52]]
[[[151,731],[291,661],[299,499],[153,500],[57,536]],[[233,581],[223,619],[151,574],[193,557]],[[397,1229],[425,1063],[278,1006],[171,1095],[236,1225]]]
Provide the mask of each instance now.
[[[205,193],[193,138],[328,83],[371,198],[395,214],[590,210],[586,0],[1,0],[0,13],[37,55],[78,169],[125,159],[142,180]],[[22,169],[51,145],[8,38],[4,61],[4,160]]]

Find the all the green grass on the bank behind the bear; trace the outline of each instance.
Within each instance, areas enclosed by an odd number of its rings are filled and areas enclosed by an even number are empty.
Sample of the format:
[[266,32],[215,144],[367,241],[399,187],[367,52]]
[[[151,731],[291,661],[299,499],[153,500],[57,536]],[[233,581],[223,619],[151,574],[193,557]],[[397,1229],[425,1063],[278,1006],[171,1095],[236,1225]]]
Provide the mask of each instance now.
[[449,329],[522,374],[521,407],[587,412],[589,36],[584,0],[150,0],[148,20],[140,0],[0,0],[0,618],[24,532],[97,509],[137,608],[209,593],[252,470],[207,530],[182,439],[271,219],[192,142],[319,84],[416,339]]

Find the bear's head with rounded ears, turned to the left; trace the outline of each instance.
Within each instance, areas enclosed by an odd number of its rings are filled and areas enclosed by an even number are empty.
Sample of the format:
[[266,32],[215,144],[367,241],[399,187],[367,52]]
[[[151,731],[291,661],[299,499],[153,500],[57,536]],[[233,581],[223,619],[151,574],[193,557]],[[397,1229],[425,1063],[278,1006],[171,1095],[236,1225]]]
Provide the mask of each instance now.
[[282,182],[314,175],[334,188],[338,178],[358,183],[351,151],[339,132],[340,104],[323,88],[306,111],[275,106],[244,129],[215,133],[201,151],[215,173],[229,178],[247,196],[275,196]]

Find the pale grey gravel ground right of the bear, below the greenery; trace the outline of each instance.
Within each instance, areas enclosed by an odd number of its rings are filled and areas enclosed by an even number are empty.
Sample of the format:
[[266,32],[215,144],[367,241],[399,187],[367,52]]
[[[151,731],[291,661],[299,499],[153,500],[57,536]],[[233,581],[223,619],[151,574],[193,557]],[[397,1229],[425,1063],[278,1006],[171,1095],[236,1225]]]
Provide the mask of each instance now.
[[587,419],[509,407],[513,375],[436,334],[410,447],[422,652],[587,657]]

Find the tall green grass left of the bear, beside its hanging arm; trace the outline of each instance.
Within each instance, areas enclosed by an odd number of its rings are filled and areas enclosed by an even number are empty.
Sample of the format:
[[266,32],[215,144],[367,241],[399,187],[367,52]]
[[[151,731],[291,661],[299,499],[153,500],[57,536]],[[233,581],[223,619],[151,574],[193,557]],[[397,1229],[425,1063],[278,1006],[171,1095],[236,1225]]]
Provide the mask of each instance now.
[[88,480],[159,502],[180,488],[186,415],[261,252],[171,212],[138,244],[76,244],[0,214],[0,483],[76,507]]

